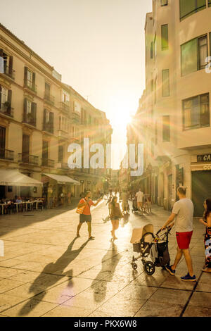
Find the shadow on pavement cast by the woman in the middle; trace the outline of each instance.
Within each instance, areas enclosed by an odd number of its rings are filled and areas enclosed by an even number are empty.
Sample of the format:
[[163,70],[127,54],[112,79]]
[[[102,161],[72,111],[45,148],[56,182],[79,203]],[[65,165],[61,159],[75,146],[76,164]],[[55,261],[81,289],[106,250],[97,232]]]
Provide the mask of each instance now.
[[101,261],[101,270],[91,284],[91,289],[94,291],[94,301],[96,302],[101,302],[103,299],[105,299],[107,284],[113,280],[115,268],[117,267],[117,264],[121,258],[121,255],[118,254],[117,246],[114,243],[112,243],[110,246],[112,247],[112,253],[110,254],[110,250],[108,250],[103,256]]

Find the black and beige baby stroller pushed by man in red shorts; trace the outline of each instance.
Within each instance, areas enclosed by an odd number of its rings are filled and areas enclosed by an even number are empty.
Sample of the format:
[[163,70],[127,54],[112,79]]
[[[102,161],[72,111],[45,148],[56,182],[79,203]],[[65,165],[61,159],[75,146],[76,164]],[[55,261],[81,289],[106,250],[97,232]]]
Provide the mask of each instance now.
[[[132,232],[131,243],[133,250],[140,253],[138,257],[132,258],[132,268],[138,268],[136,261],[141,258],[143,269],[148,275],[155,273],[155,267],[170,266],[170,254],[168,251],[168,235],[170,234],[171,227],[165,230],[161,229],[153,235],[153,225],[147,224],[143,227],[136,228]],[[158,236],[158,234],[160,234]],[[151,258],[151,260],[148,259]]]

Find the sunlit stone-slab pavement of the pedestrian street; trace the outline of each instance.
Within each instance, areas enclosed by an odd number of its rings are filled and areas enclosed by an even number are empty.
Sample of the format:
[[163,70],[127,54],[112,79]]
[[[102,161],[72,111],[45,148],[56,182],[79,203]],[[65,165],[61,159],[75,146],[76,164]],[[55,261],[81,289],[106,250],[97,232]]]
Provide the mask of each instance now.
[[[141,220],[155,232],[169,213],[153,206],[151,215],[120,222],[118,239],[110,242],[106,201],[92,210],[95,240],[87,241],[87,225],[75,237],[79,216],[56,208],[0,216],[5,254],[0,257],[0,316],[211,316],[211,275],[203,273],[203,225],[194,220],[191,256],[197,282],[182,282],[184,258],[175,276],[156,268],[152,276],[138,261],[130,264],[133,227]],[[172,263],[177,251],[175,232],[169,242]]]

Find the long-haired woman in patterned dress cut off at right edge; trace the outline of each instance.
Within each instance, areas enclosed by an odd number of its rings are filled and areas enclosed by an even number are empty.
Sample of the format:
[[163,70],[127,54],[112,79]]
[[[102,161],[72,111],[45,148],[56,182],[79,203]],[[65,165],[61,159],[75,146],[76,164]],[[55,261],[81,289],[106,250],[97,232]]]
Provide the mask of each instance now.
[[205,212],[203,218],[200,218],[200,223],[205,225],[205,273],[211,273],[211,199],[206,199],[204,202]]

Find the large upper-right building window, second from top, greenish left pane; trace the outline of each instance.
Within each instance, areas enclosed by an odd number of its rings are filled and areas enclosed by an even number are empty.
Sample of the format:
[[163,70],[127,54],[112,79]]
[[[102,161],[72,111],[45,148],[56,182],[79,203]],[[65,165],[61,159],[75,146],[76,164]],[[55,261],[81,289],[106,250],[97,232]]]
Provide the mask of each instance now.
[[181,45],[181,75],[185,76],[205,68],[207,56],[207,35]]

